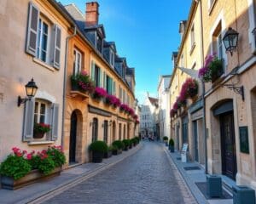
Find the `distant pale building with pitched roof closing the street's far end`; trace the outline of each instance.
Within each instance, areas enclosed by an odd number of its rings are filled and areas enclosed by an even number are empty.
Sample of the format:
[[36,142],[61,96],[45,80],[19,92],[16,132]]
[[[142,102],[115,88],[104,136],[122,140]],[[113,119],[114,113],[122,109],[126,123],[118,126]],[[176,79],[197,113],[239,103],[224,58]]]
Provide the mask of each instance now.
[[158,99],[149,97],[148,95],[144,104],[141,105],[140,133],[142,137],[158,137],[155,125],[155,113],[157,109]]

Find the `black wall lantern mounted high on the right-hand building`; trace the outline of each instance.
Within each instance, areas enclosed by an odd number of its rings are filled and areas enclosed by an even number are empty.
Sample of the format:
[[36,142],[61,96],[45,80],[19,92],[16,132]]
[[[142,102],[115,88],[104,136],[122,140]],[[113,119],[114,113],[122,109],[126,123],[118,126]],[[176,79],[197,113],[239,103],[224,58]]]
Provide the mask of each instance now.
[[239,33],[237,31],[229,27],[229,30],[225,33],[223,37],[226,51],[229,51],[231,56],[233,54],[233,51],[237,48],[238,35]]

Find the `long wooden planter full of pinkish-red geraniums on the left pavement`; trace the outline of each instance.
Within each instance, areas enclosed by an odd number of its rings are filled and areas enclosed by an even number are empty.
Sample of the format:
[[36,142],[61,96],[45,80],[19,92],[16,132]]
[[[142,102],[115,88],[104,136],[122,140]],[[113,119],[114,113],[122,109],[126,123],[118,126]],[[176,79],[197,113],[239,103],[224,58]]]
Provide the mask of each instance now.
[[0,165],[3,189],[16,190],[46,177],[60,175],[61,166],[66,158],[61,146],[51,146],[35,154],[14,147]]

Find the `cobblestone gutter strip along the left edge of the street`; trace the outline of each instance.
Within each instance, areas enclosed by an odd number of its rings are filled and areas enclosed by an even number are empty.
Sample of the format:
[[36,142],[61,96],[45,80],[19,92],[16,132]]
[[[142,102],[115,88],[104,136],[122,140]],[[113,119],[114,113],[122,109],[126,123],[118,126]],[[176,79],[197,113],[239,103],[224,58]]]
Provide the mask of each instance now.
[[68,190],[68,189],[72,188],[73,186],[75,186],[89,178],[96,176],[98,173],[102,173],[103,171],[105,171],[106,169],[108,169],[110,167],[113,167],[120,161],[123,161],[126,158],[128,158],[129,156],[134,155],[138,150],[140,150],[142,148],[142,146],[143,146],[143,144],[139,144],[139,145],[137,145],[137,147],[128,151],[128,154],[126,156],[120,158],[119,160],[113,161],[112,163],[109,163],[106,166],[98,167],[98,168],[94,169],[93,171],[91,171],[90,173],[84,173],[83,175],[79,176],[78,178],[74,178],[72,181],[70,181],[68,183],[61,184],[60,186],[56,187],[55,189],[49,190],[48,192],[44,192],[44,194],[42,194],[38,197],[30,198],[29,201],[21,201],[21,202],[19,202],[19,204],[21,204],[21,203],[38,204],[38,203],[47,201],[50,198],[54,197],[55,195],[61,194],[63,191]]

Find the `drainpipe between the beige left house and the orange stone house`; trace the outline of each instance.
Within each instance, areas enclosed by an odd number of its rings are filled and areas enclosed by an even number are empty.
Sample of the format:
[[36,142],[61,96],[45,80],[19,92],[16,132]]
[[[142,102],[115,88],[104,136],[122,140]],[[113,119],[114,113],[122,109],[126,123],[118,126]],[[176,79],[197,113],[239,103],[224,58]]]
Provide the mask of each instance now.
[[61,121],[61,146],[64,144],[64,121],[65,121],[65,107],[66,107],[66,90],[67,90],[67,54],[68,54],[68,42],[72,37],[77,35],[77,26],[74,26],[73,35],[66,38],[66,53],[65,53],[65,65],[64,65],[64,82],[63,82],[63,99],[62,99],[62,121]]

